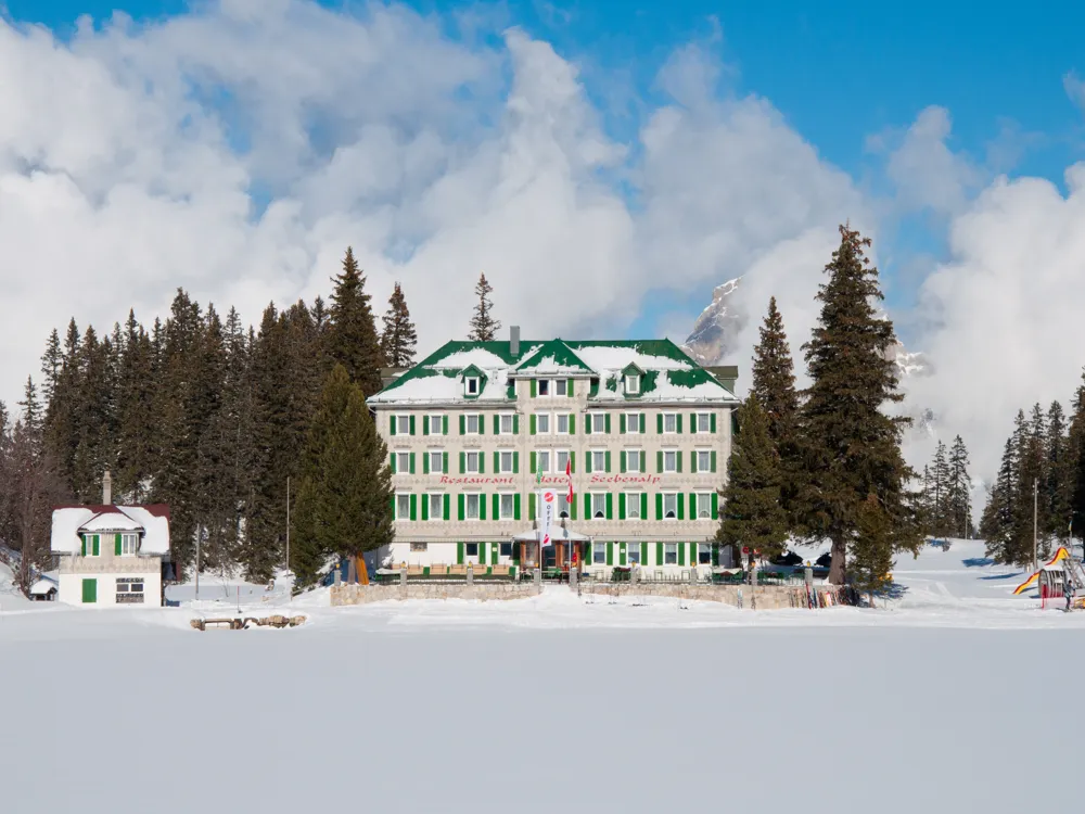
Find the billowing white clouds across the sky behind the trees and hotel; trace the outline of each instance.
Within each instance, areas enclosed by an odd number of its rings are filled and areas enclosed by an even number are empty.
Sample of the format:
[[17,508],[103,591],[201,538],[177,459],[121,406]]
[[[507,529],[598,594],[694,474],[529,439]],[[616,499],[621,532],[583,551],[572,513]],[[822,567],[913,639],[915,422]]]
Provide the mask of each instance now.
[[[1069,397],[1085,363],[1085,169],[1069,196],[984,179],[929,109],[885,148],[895,196],[879,200],[768,100],[718,93],[697,46],[621,143],[547,42],[454,39],[447,24],[303,0],[87,21],[65,42],[0,21],[3,395],[72,315],[107,330],[133,307],[150,322],[183,287],[256,321],[269,301],[327,295],[347,244],[379,310],[403,282],[423,348],[465,333],[480,270],[506,325],[570,336],[622,334],[653,292],[707,302],[749,271],[746,307],[760,317],[775,294],[797,354],[837,225],[877,241],[924,208],[952,239],[922,285],[916,346],[937,373],[917,399],[986,474],[1019,406]],[[751,325],[745,371],[755,340]]]

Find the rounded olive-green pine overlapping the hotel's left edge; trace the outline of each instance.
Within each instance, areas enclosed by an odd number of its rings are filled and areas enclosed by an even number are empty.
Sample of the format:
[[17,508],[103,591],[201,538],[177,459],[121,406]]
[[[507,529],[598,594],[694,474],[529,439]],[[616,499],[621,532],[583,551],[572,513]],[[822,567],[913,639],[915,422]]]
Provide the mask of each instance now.
[[324,384],[304,460],[291,565],[307,584],[327,555],[357,557],[393,539],[387,447],[342,365]]

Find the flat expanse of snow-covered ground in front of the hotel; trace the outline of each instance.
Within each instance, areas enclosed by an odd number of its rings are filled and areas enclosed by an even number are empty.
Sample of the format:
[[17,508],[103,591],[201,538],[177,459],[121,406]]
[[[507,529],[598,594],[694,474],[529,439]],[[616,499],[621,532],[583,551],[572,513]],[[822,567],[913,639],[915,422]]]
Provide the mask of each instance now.
[[309,622],[200,633],[237,585],[87,611],[0,572],[0,811],[1076,810],[1085,612],[1012,596],[976,543],[895,575],[890,607],[821,611],[242,585]]

